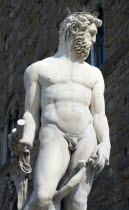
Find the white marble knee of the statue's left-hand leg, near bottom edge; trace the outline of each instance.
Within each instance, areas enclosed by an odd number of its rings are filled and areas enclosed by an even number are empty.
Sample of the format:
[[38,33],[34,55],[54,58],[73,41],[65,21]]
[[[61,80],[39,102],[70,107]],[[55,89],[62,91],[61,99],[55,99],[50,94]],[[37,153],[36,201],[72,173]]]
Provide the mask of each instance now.
[[48,207],[52,201],[52,197],[42,190],[36,192],[36,206],[39,208]]

